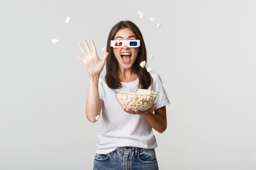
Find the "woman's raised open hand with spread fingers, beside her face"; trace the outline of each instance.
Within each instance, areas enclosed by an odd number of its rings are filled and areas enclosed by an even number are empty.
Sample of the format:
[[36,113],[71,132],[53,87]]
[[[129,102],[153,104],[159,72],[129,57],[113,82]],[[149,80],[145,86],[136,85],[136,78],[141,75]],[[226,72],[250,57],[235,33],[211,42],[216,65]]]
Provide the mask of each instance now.
[[90,50],[86,40],[83,40],[83,42],[84,42],[86,50],[83,48],[83,46],[80,43],[78,44],[78,46],[79,46],[80,50],[82,51],[85,58],[79,57],[78,54],[74,54],[74,55],[81,62],[83,62],[83,64],[85,65],[90,77],[99,76],[100,72],[104,68],[106,59],[108,57],[108,52],[106,52],[104,54],[104,56],[102,57],[102,59],[100,59],[100,58],[98,58],[98,54],[97,54],[97,51],[96,51],[94,41],[91,40],[93,51]]

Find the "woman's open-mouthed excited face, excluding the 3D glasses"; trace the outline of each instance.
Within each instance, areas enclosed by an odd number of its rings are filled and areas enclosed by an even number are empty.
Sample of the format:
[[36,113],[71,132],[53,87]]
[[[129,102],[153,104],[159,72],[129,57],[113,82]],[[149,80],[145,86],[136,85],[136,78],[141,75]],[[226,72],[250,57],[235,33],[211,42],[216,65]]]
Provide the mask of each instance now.
[[[136,40],[135,34],[128,28],[119,30],[113,40]],[[125,45],[123,48],[113,48],[114,54],[118,60],[119,67],[124,69],[132,68],[140,51],[139,48],[129,48]],[[122,55],[129,53],[130,55]]]

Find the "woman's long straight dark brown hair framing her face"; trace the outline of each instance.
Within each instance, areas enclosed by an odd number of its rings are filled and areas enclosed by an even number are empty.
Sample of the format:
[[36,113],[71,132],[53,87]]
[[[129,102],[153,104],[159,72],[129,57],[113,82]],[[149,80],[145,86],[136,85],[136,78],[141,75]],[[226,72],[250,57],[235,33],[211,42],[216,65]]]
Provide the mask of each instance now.
[[113,28],[110,30],[110,33],[108,35],[108,41],[107,41],[107,51],[109,52],[109,56],[106,60],[106,83],[109,86],[109,88],[117,89],[121,88],[122,85],[118,78],[118,60],[115,57],[113,48],[110,47],[110,41],[114,39],[116,33],[120,29],[130,29],[137,37],[137,39],[140,40],[140,51],[138,52],[138,56],[136,58],[135,63],[132,66],[133,71],[138,75],[139,79],[139,86],[138,88],[144,88],[148,89],[148,87],[153,83],[153,79],[149,72],[145,68],[140,67],[140,62],[146,61],[147,62],[147,51],[145,47],[145,43],[142,37],[142,34],[140,30],[138,29],[137,25],[135,25],[132,21],[125,20],[120,21],[116,25],[113,26]]

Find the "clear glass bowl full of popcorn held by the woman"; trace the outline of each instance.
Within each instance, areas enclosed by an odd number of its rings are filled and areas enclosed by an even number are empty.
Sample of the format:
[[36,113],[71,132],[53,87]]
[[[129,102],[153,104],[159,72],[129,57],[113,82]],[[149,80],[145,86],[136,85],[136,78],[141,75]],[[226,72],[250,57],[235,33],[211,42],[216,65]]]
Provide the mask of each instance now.
[[148,110],[156,101],[158,92],[148,89],[116,89],[118,103],[130,110]]

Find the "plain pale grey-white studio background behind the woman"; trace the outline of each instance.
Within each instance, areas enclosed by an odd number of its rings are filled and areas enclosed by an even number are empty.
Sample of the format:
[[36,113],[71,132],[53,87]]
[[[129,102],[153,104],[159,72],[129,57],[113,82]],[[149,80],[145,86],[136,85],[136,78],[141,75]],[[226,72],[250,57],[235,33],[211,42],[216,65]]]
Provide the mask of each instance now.
[[167,130],[154,131],[159,169],[255,170],[255,7],[253,0],[1,0],[0,170],[92,169],[101,124],[86,119],[88,73],[73,54],[94,39],[102,57],[110,29],[126,19],[141,30],[154,55],[148,67],[171,102]]

